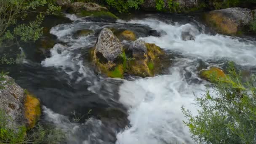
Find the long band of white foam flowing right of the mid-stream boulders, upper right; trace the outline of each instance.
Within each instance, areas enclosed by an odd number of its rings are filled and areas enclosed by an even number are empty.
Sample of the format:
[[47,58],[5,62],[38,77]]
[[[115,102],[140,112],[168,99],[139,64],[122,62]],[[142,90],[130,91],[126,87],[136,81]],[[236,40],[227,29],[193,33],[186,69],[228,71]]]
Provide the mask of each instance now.
[[[119,22],[124,22],[120,21]],[[204,60],[227,59],[237,64],[256,66],[256,43],[240,41],[237,37],[224,35],[199,34],[197,27],[191,24],[171,25],[157,19],[131,20],[128,23],[145,24],[159,32],[165,32],[161,37],[144,37],[149,43],[155,43],[161,48],[179,51],[185,56],[194,56]],[[181,32],[187,27],[194,29],[195,40],[183,41]]]

